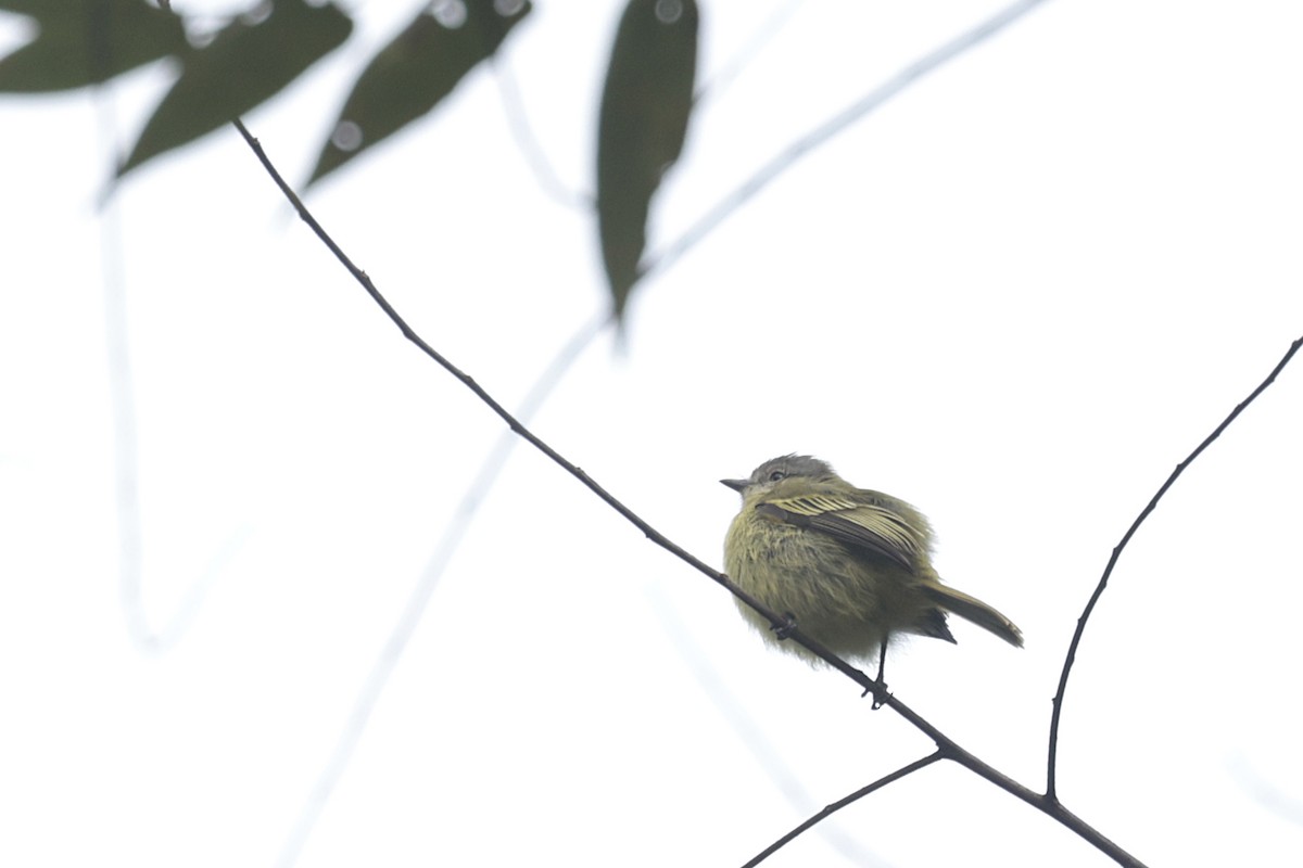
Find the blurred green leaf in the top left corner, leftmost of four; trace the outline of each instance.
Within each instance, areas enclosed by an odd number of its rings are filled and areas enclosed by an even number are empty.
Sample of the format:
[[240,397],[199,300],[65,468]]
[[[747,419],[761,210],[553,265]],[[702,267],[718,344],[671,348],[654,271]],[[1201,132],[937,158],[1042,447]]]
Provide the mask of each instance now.
[[0,92],[46,94],[106,82],[188,49],[181,20],[145,0],[0,0],[36,20],[36,38],[0,59]]

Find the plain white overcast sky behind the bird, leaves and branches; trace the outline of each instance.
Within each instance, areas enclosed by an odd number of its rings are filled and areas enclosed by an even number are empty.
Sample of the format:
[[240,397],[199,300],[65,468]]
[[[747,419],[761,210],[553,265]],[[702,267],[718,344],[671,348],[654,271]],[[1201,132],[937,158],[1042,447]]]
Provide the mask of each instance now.
[[[364,5],[343,52],[246,117],[288,177],[420,5]],[[704,81],[784,5],[706,4]],[[803,4],[693,118],[653,247],[999,5]],[[507,43],[579,190],[619,8],[545,1]],[[1110,549],[1303,334],[1300,25],[1289,3],[1044,5],[642,286],[627,353],[597,341],[534,431],[714,563],[737,505],[715,480],[775,454],[916,502],[942,575],[1027,649],[959,622],[958,647],[896,651],[891,687],[1042,789]],[[167,81],[103,96],[115,147]],[[503,426],[289,219],[233,130],[130,177],[106,230],[96,117],[89,92],[0,100],[0,864],[272,865]],[[605,305],[592,220],[536,183],[487,70],[309,204],[508,407]],[[119,582],[104,237],[151,627],[211,575],[156,655]],[[1070,685],[1061,796],[1151,865],[1303,848],[1299,364],[1136,536]],[[521,446],[297,864],[735,865],[928,748]],[[1109,864],[950,765],[826,828],[769,864]]]

